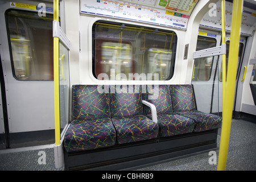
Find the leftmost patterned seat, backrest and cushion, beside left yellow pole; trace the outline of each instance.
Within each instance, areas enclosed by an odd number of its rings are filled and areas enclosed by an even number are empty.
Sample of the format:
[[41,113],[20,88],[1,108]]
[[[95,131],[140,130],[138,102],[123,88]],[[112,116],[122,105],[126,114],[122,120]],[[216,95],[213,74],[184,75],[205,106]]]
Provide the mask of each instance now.
[[115,144],[109,94],[100,94],[97,85],[72,87],[72,117],[64,138],[66,151],[91,150]]

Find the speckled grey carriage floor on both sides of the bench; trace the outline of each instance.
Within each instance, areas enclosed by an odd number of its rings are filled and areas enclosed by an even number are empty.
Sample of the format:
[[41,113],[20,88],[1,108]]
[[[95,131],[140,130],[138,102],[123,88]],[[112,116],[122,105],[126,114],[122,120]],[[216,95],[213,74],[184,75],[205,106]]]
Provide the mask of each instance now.
[[[221,130],[219,131],[221,133]],[[220,145],[220,135],[217,139]],[[45,164],[40,160],[45,152]],[[218,157],[218,149],[215,150]],[[216,171],[216,164],[209,164],[212,155],[203,152],[182,159],[160,163],[137,169],[138,171]],[[41,164],[40,164],[41,163]],[[40,147],[15,148],[0,150],[1,171],[56,171],[64,170],[64,167],[55,168],[53,145]],[[251,171],[256,170],[256,122],[232,120],[230,130],[229,151],[226,164],[227,171]]]

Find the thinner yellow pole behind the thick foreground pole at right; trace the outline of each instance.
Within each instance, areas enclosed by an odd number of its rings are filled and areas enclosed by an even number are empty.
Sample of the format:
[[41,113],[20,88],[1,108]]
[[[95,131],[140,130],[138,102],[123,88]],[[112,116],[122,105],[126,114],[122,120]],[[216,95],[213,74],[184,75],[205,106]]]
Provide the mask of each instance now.
[[[225,0],[221,0],[222,45],[226,44]],[[222,55],[222,108],[226,92],[226,55]],[[223,109],[222,109],[223,110]]]

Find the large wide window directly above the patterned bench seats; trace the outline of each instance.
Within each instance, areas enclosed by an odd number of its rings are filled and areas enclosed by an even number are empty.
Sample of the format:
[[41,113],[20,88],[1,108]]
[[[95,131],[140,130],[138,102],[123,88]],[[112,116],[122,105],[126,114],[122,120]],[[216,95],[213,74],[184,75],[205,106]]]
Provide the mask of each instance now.
[[100,80],[134,80],[135,73],[158,73],[159,80],[170,80],[174,75],[174,31],[100,20],[93,24],[92,38],[93,75]]

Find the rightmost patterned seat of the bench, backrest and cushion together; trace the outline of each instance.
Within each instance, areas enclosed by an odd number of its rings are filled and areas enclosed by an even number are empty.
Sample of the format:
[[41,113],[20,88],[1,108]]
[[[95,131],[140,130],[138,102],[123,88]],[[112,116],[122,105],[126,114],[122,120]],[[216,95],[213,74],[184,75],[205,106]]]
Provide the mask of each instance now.
[[170,92],[172,109],[179,115],[193,119],[194,131],[217,129],[221,126],[221,117],[196,110],[192,85],[171,85]]

